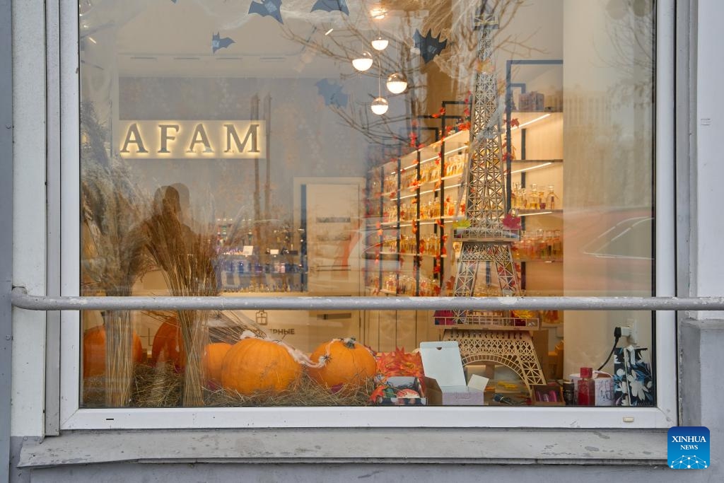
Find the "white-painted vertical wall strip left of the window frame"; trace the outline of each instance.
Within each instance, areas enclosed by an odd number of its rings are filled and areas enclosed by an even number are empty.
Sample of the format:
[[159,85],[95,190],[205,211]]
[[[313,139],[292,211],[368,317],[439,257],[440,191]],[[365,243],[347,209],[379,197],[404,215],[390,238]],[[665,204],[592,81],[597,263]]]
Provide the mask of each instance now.
[[[45,2],[12,2],[13,285],[46,293]],[[46,314],[13,309],[13,436],[43,434]]]

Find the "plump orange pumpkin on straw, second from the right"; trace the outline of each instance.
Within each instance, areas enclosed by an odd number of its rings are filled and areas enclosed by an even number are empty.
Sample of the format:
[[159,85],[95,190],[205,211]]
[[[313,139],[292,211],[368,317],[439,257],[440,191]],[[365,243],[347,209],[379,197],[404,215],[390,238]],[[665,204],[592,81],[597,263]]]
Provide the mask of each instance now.
[[287,348],[271,340],[248,338],[235,343],[224,357],[222,386],[243,395],[279,394],[302,374]]

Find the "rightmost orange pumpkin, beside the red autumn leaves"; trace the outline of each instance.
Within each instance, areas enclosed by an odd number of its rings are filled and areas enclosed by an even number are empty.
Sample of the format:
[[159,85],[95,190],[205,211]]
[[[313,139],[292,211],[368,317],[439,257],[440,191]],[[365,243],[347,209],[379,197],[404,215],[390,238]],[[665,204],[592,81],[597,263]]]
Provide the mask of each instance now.
[[342,385],[357,387],[374,377],[377,364],[370,351],[354,339],[334,339],[319,345],[311,355],[314,364],[309,376],[321,385],[337,388]]

